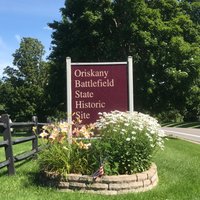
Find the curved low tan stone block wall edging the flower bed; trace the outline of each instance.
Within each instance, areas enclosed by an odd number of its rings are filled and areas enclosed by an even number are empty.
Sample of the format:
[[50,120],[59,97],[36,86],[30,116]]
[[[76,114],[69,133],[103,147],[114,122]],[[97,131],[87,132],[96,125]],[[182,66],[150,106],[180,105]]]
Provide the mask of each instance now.
[[154,188],[158,183],[157,167],[154,163],[149,170],[133,175],[102,176],[94,180],[88,175],[68,174],[66,177],[59,177],[55,173],[45,173],[45,178],[49,185],[54,185],[61,191],[105,195],[144,192]]

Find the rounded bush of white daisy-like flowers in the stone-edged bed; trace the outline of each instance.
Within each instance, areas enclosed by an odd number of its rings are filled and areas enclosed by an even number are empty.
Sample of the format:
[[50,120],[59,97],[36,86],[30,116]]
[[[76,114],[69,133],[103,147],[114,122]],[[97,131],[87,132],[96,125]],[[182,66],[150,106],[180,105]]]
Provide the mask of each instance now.
[[164,132],[149,115],[120,111],[100,113],[95,126],[101,136],[101,154],[111,174],[132,174],[148,169],[155,149],[164,147]]

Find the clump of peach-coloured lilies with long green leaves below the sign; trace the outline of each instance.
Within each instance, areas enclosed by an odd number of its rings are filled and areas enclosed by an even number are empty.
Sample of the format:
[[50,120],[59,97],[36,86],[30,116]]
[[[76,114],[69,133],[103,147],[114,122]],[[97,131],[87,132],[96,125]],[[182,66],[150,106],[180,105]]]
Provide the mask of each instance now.
[[[72,138],[69,138],[71,127]],[[38,159],[40,170],[61,174],[86,173],[86,150],[91,146],[88,140],[93,135],[92,128],[92,125],[82,125],[79,119],[72,124],[57,122],[43,126],[40,137],[45,149]]]

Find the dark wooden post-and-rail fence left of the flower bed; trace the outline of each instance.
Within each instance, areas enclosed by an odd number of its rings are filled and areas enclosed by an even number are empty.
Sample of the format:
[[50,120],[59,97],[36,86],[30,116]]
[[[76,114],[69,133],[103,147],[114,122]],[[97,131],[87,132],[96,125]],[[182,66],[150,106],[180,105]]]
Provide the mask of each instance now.
[[[15,162],[22,161],[31,156],[34,156],[39,151],[38,146],[38,132],[39,126],[44,125],[44,123],[38,123],[37,117],[33,117],[32,122],[11,122],[9,115],[4,114],[0,116],[0,127],[3,127],[3,141],[0,142],[0,148],[4,148],[5,150],[5,158],[6,160],[0,162],[0,169],[3,167],[7,167],[8,174],[15,174]],[[36,127],[36,131],[33,132],[32,128]],[[20,138],[20,139],[12,139],[11,128],[31,128],[31,136]],[[22,154],[14,155],[13,153],[13,145],[17,145],[20,143],[32,141],[32,150],[26,151]]]

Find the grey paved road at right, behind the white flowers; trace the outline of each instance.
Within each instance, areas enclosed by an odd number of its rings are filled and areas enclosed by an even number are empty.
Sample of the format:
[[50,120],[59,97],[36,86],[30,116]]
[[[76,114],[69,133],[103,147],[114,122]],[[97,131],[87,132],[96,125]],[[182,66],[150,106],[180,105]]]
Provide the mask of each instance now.
[[162,127],[167,135],[200,143],[200,129]]

